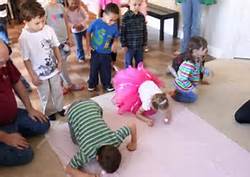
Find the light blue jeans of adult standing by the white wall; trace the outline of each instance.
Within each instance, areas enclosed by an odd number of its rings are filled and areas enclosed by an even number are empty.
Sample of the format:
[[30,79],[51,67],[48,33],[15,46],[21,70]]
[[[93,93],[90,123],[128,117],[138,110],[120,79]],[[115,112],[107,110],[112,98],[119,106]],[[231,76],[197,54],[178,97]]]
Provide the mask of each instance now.
[[201,4],[200,0],[185,0],[182,3],[183,39],[181,53],[188,48],[191,37],[200,35]]

